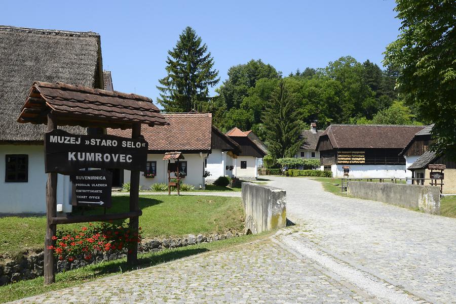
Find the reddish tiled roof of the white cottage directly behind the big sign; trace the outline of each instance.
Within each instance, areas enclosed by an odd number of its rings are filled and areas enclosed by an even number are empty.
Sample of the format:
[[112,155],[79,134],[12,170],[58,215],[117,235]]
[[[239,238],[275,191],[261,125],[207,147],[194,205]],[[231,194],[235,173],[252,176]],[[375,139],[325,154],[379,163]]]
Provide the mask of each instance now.
[[[169,125],[141,126],[141,135],[149,143],[149,151],[211,150],[212,114],[163,114]],[[107,129],[109,135],[130,137],[131,132]]]

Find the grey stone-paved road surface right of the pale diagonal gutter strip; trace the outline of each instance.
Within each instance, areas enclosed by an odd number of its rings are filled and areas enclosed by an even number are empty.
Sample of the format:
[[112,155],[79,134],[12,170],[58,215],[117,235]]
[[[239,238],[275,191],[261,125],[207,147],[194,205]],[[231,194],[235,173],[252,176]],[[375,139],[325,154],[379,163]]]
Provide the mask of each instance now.
[[291,247],[318,249],[434,303],[456,303],[456,219],[324,192],[304,178],[273,177],[300,232]]

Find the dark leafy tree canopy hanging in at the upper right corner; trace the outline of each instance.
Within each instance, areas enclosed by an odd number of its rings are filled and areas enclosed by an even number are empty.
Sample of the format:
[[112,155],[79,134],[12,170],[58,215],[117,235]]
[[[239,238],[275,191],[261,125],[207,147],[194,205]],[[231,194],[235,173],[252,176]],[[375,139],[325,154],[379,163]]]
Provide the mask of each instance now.
[[456,5],[454,1],[396,0],[399,38],[384,63],[401,69],[397,86],[425,122],[435,123],[432,149],[456,158]]

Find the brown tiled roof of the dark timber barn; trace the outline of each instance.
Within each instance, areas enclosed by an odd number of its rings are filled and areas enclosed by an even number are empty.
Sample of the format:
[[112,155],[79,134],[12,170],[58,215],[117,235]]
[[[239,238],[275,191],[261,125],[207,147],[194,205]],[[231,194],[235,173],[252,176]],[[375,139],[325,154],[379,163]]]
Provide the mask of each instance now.
[[383,124],[331,124],[320,135],[328,136],[334,149],[403,149],[425,126]]

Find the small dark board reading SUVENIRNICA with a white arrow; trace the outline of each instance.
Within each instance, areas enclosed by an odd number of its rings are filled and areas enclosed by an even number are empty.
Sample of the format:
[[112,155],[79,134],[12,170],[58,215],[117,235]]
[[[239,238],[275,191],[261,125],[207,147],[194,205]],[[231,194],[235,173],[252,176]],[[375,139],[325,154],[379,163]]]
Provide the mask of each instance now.
[[78,171],[71,175],[73,206],[111,206],[112,172],[107,170]]

